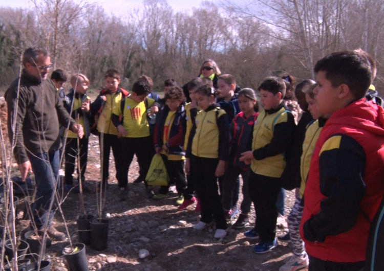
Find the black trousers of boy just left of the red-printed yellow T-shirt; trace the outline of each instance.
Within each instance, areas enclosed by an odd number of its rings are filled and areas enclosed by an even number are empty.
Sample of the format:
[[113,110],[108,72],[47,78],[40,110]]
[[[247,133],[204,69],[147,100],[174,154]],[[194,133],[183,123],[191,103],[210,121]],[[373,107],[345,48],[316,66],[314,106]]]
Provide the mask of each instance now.
[[121,139],[117,138],[115,134],[100,133],[99,134],[100,144],[100,158],[102,161],[101,167],[101,180],[103,186],[108,183],[109,168],[110,168],[110,154],[111,148],[113,157],[115,159],[116,179],[118,178],[118,171],[121,170],[119,163],[121,162]]

